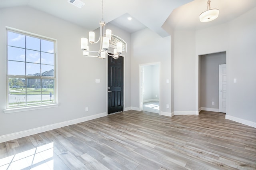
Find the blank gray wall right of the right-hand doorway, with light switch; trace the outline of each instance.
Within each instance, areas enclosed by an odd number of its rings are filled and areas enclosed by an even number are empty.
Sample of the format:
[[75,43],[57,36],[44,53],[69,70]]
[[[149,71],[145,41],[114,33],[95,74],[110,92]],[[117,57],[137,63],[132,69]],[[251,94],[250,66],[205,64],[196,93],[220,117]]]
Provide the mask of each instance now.
[[[256,127],[256,8],[229,24],[227,114]],[[237,79],[237,83],[233,79]],[[226,115],[227,115],[226,114]]]

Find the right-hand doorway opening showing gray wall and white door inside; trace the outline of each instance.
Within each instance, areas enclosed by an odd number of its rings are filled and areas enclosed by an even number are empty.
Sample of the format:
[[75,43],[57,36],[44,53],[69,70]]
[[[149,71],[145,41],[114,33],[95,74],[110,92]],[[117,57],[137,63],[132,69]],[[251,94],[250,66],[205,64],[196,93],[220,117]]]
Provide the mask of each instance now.
[[[199,55],[198,61],[199,111],[226,113],[223,110],[226,108],[226,74],[223,76],[219,69],[220,65],[226,65],[226,51]],[[222,71],[225,72],[226,67]]]

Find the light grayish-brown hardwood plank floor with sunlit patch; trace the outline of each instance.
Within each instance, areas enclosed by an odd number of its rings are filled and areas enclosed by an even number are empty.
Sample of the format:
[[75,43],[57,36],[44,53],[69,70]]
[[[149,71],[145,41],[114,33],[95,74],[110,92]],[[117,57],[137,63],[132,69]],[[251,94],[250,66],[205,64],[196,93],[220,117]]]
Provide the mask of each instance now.
[[0,169],[256,169],[256,128],[222,113],[126,111],[0,143]]

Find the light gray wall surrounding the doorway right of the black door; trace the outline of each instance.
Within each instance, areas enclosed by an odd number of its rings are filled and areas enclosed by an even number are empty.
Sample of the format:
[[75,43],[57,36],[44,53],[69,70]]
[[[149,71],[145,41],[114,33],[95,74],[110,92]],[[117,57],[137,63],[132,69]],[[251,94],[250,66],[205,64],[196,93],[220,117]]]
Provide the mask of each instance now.
[[[162,38],[146,28],[132,34],[132,109],[139,110],[139,65],[160,62],[160,115],[171,114],[171,37]],[[161,113],[162,112],[162,113]]]

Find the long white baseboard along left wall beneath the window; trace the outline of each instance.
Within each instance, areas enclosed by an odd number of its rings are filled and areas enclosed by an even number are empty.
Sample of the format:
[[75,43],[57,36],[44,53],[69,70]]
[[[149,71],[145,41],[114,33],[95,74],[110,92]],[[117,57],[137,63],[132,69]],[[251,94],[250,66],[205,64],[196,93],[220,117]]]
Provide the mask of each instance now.
[[32,128],[32,129],[24,130],[24,131],[21,131],[21,132],[5,134],[5,135],[0,136],[0,143],[6,142],[6,141],[9,141],[9,140],[14,140],[14,139],[17,139],[17,138],[22,138],[22,137],[25,137],[25,136],[30,136],[30,135],[37,134],[37,133],[46,132],[48,130],[53,130],[53,129],[56,129],[56,128],[61,128],[61,127],[69,126],[69,125],[74,125],[76,123],[90,121],[92,119],[97,119],[97,118],[104,117],[104,116],[107,116],[107,115],[108,115],[107,113],[99,113],[97,115],[91,115],[91,116],[87,116],[87,117],[73,119],[73,120],[70,120],[70,121],[55,123],[55,124],[47,125],[47,126],[44,126],[44,127]]

